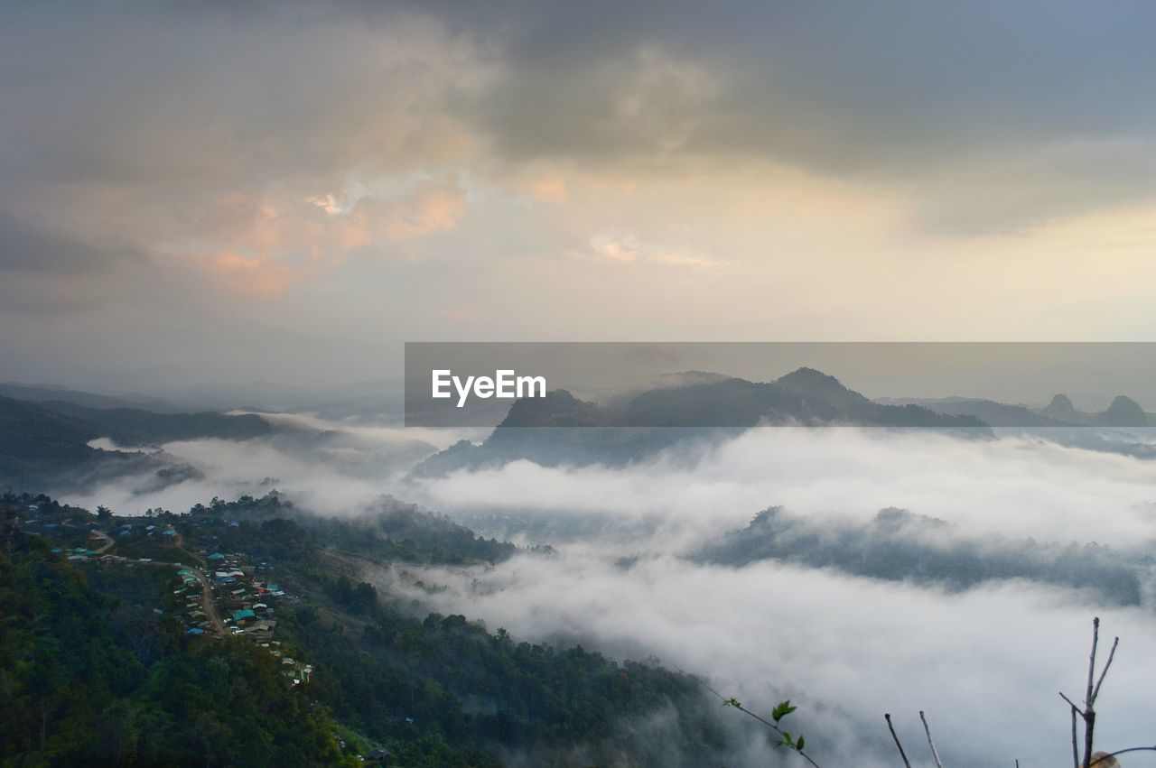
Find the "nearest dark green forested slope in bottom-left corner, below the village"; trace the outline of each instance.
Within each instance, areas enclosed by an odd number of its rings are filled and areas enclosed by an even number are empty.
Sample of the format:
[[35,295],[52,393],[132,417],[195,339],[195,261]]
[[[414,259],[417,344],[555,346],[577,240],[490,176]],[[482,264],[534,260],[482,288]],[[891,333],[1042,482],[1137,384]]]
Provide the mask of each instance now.
[[[335,722],[283,684],[276,658],[188,637],[171,617],[96,591],[7,515],[2,765],[354,765]],[[172,580],[160,573],[138,568],[129,584],[171,607]]]

